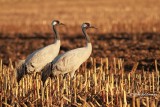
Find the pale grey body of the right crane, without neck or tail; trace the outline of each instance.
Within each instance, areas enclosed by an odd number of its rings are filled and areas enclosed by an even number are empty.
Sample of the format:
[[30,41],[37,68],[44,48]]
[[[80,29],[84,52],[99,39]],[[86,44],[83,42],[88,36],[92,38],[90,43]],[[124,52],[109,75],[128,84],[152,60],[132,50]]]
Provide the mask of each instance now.
[[85,62],[92,52],[92,45],[88,43],[86,47],[70,50],[55,58],[52,62],[53,75],[70,73],[74,76],[75,71]]

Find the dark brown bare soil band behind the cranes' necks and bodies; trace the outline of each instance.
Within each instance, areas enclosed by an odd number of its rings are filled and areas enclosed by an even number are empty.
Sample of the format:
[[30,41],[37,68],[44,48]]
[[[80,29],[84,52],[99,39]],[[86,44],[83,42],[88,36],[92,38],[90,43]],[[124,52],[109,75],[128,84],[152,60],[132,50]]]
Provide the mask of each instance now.
[[[65,52],[85,45],[84,37],[79,35],[61,35],[61,51]],[[131,70],[136,62],[139,62],[138,69],[152,71],[155,69],[154,60],[158,60],[160,69],[160,33],[108,33],[91,34],[93,44],[92,57],[123,58],[125,69]],[[0,58],[8,64],[8,59],[13,61],[25,59],[27,55],[36,49],[51,44],[54,41],[53,34],[15,34],[0,35]]]

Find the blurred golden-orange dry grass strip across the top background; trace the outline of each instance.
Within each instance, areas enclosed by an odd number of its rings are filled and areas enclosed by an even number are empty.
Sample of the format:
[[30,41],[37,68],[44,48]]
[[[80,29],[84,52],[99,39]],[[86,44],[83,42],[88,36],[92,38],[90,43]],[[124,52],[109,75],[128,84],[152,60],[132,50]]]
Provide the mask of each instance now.
[[157,0],[0,0],[0,32],[51,32],[50,23],[58,19],[80,33],[89,21],[106,32],[159,32],[160,2]]

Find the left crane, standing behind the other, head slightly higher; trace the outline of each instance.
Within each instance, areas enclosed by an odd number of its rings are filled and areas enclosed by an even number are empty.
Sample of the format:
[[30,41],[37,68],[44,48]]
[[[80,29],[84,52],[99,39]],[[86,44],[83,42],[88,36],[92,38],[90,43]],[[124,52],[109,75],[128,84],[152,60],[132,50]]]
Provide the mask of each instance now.
[[53,31],[55,33],[55,41],[46,47],[40,48],[30,54],[24,61],[21,67],[22,71],[17,75],[17,81],[19,82],[23,75],[33,74],[34,72],[41,72],[43,67],[51,62],[59,53],[60,49],[60,37],[56,30],[56,26],[64,25],[58,20],[52,21]]

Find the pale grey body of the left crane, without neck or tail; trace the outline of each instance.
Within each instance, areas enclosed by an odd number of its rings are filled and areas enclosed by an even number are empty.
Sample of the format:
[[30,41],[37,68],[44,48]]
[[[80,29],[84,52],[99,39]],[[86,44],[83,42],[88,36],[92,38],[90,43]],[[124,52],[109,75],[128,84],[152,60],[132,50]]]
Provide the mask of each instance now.
[[27,73],[40,72],[47,63],[51,62],[58,55],[59,49],[60,40],[57,40],[54,44],[33,52],[25,61]]

